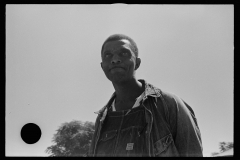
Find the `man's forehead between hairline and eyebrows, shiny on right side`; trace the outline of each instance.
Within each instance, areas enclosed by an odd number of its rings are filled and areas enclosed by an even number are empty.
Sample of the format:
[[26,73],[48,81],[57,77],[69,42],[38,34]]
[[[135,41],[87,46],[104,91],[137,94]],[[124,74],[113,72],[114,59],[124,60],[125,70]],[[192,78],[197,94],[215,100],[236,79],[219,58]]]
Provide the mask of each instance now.
[[126,40],[126,39],[122,39],[122,40],[116,40],[116,41],[109,41],[107,43],[105,43],[104,47],[103,47],[103,52],[110,50],[110,51],[116,51],[122,48],[126,48],[126,49],[131,49],[131,43]]

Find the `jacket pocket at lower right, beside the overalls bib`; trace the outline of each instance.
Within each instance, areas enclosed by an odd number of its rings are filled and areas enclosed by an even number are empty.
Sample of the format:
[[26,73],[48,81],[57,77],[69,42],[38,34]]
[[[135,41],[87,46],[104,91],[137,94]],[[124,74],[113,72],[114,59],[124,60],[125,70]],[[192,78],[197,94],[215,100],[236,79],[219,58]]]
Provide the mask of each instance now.
[[154,154],[156,156],[173,156],[177,154],[171,134],[154,143]]

